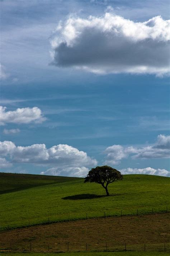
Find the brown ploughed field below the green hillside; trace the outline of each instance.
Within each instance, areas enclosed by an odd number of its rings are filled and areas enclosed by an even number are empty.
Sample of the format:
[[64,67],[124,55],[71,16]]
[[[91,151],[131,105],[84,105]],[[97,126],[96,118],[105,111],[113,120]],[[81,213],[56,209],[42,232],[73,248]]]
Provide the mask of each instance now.
[[[108,217],[0,233],[0,248],[19,251],[170,251],[170,214]],[[106,244],[107,243],[107,244]]]

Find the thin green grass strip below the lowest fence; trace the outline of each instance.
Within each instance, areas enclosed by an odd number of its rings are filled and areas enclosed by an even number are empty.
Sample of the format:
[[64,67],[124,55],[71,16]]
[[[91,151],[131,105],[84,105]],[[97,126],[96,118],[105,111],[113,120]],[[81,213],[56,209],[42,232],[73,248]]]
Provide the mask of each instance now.
[[[11,253],[3,253],[11,256]],[[69,253],[13,253],[14,256],[169,256],[165,252],[69,252]]]

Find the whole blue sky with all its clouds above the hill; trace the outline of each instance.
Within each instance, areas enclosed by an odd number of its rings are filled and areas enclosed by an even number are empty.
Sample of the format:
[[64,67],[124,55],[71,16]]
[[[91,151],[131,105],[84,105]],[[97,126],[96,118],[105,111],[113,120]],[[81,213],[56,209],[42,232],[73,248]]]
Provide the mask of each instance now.
[[0,171],[170,176],[169,1],[0,5]]

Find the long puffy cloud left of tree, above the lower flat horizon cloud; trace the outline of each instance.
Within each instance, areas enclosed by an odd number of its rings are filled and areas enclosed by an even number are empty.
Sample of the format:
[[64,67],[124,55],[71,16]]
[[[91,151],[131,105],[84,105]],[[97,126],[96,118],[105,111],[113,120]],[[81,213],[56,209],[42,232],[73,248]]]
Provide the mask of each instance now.
[[97,164],[97,161],[90,158],[84,151],[79,151],[66,144],[58,144],[47,149],[45,144],[16,147],[13,142],[4,141],[0,142],[0,153],[9,156],[15,163],[57,164],[57,167],[64,168]]

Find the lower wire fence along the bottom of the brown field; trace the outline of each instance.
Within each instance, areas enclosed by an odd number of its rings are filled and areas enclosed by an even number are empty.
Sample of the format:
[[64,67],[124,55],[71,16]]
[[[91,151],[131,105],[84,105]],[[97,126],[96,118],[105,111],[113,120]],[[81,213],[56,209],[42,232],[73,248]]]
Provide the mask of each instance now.
[[114,244],[113,241],[97,242],[97,243],[14,243],[11,241],[0,244],[0,252],[80,252],[80,251],[157,251],[170,252],[170,243],[144,243]]

